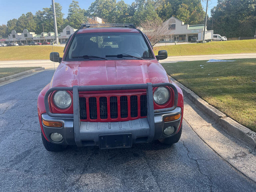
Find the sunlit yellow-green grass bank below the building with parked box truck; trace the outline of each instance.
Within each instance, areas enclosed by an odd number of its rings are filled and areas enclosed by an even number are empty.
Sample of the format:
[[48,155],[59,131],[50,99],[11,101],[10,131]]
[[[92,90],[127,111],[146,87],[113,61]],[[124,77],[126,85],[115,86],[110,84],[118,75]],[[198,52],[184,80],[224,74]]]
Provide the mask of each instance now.
[[256,40],[213,41],[203,44],[160,46],[154,47],[155,55],[159,50],[167,50],[168,56],[256,53]]

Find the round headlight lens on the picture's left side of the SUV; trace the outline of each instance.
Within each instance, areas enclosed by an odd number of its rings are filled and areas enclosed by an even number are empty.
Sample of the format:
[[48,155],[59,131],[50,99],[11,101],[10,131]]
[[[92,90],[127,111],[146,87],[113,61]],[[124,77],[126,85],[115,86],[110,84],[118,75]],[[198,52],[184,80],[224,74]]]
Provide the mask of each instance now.
[[71,104],[71,96],[67,91],[57,91],[53,97],[54,104],[60,109],[66,109]]

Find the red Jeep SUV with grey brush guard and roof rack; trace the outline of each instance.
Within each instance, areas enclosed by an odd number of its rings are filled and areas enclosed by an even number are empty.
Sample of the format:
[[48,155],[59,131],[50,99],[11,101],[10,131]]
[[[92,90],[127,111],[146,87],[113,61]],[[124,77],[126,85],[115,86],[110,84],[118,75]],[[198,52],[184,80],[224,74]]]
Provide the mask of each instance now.
[[144,33],[132,24],[82,24],[63,52],[50,53],[60,64],[38,96],[46,150],[179,141],[183,93],[158,62],[167,51],[155,56]]

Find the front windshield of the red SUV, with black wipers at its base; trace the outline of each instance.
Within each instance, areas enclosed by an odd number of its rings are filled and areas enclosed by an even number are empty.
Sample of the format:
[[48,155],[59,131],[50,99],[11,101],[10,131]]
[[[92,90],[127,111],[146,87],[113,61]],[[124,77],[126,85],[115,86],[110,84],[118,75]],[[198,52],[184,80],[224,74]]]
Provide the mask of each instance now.
[[109,60],[154,58],[140,33],[102,32],[76,34],[65,60],[103,60],[106,57]]

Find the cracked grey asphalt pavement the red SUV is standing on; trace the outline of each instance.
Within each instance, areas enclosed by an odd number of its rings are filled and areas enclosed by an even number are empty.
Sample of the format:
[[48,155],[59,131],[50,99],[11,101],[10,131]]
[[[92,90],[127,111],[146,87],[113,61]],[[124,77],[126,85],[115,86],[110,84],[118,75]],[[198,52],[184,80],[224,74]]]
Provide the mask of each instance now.
[[54,71],[0,87],[0,191],[256,191],[184,121],[181,140],[132,148],[47,152],[37,97]]

